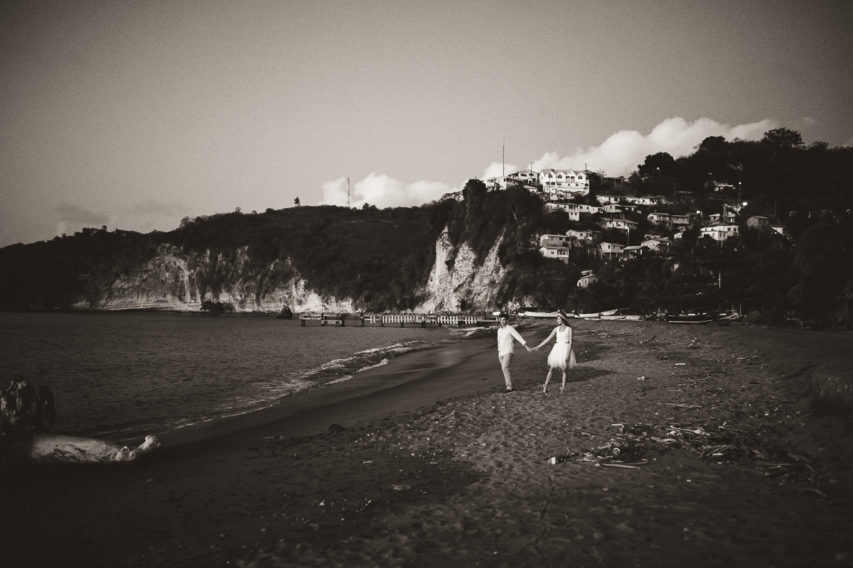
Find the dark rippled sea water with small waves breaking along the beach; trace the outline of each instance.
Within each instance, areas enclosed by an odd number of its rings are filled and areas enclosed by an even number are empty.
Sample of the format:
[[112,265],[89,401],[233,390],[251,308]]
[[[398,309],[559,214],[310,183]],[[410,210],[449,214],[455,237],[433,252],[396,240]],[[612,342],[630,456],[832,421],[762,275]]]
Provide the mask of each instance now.
[[58,432],[126,440],[357,380],[453,333],[235,314],[0,313],[0,387],[25,376],[54,394]]

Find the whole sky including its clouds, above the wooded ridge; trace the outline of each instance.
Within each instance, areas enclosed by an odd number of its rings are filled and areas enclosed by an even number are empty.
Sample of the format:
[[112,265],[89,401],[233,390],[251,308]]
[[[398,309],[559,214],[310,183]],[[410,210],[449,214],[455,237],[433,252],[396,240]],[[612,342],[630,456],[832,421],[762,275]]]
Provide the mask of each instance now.
[[5,0],[0,246],[780,126],[853,146],[851,36],[848,0]]

